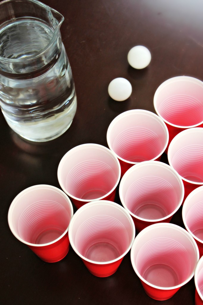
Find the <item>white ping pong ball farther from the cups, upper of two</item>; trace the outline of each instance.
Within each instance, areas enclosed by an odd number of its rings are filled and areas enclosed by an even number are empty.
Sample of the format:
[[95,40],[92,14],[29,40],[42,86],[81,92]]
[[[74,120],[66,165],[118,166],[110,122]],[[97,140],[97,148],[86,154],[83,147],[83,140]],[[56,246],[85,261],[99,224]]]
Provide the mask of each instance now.
[[143,45],[136,45],[128,52],[128,63],[135,69],[144,69],[151,61],[151,53]]

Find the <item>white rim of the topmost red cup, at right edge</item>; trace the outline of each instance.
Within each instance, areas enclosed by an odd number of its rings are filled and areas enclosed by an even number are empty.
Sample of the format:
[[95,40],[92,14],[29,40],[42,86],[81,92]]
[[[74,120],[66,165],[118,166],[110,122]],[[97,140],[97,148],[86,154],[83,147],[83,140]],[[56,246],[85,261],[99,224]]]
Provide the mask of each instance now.
[[168,125],[170,126],[173,126],[173,127],[176,127],[176,128],[182,128],[182,129],[185,129],[185,128],[192,128],[192,127],[197,127],[201,124],[203,124],[203,120],[200,121],[199,123],[197,124],[194,124],[194,125],[188,125],[188,126],[183,126],[183,125],[176,125],[176,124],[173,124],[173,123],[170,123],[169,121],[167,121],[166,119],[164,119],[164,117],[161,116],[161,114],[159,113],[159,110],[157,109],[157,106],[156,106],[156,99],[157,99],[157,96],[159,94],[159,91],[161,89],[163,89],[164,87],[166,87],[168,84],[170,83],[173,83],[173,82],[176,82],[176,81],[182,81],[182,80],[191,80],[193,82],[196,82],[196,83],[199,83],[203,86],[203,82],[201,80],[199,80],[198,78],[195,78],[195,77],[192,77],[192,76],[187,76],[187,75],[182,75],[182,76],[175,76],[175,77],[171,77],[169,79],[167,79],[166,81],[164,81],[163,83],[161,83],[159,85],[159,87],[156,89],[155,91],[155,94],[154,94],[154,99],[153,99],[153,104],[154,104],[154,109],[157,113],[157,115]]

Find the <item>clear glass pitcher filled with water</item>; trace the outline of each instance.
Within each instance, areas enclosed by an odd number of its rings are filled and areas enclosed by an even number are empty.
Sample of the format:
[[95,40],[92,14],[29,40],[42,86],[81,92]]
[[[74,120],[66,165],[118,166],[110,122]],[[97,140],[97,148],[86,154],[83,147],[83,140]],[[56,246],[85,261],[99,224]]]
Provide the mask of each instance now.
[[0,106],[9,126],[31,141],[57,138],[75,116],[63,20],[37,0],[0,2]]

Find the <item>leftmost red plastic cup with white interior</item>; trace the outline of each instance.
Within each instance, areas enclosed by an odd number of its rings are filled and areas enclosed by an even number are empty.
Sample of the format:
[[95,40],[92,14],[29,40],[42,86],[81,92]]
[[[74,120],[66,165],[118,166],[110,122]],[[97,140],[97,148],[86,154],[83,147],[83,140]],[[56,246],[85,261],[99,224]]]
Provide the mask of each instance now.
[[72,215],[72,203],[63,191],[51,185],[34,185],[12,201],[8,222],[19,241],[45,262],[54,263],[68,253]]

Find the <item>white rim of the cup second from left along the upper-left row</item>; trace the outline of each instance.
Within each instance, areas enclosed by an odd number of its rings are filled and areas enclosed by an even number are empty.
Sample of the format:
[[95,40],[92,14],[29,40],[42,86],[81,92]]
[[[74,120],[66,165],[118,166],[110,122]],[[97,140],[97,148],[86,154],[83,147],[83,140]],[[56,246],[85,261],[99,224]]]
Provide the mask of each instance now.
[[[66,156],[70,153],[70,152],[73,152],[74,150],[78,149],[79,147],[86,147],[86,146],[93,146],[93,147],[98,147],[98,148],[102,148],[103,150],[105,150],[106,152],[108,152],[109,154],[111,154],[111,156],[114,157],[114,160],[115,162],[117,163],[117,166],[118,166],[118,177],[117,177],[117,181],[114,185],[114,187],[108,192],[106,193],[105,195],[101,196],[101,197],[98,197],[98,198],[95,198],[95,199],[82,199],[82,198],[79,198],[79,197],[75,197],[74,195],[72,195],[71,193],[69,193],[66,188],[64,187],[63,183],[61,182],[61,169],[62,169],[62,164],[64,162],[64,160],[66,159]],[[58,170],[57,170],[57,176],[58,176],[58,182],[62,188],[62,190],[69,196],[71,197],[72,199],[75,199],[75,200],[78,200],[80,202],[83,202],[83,203],[88,203],[88,202],[92,202],[94,200],[101,200],[101,199],[104,199],[106,198],[107,196],[109,196],[116,188],[117,188],[117,185],[120,181],[120,178],[121,178],[121,165],[118,161],[118,158],[116,156],[116,154],[111,151],[109,148],[107,148],[106,146],[103,146],[103,145],[100,145],[100,144],[96,144],[96,143],[85,143],[85,144],[80,144],[80,145],[77,145],[75,147],[73,147],[72,149],[68,150],[68,152],[65,153],[65,155],[61,158],[60,162],[59,162],[59,165],[58,165]]]

